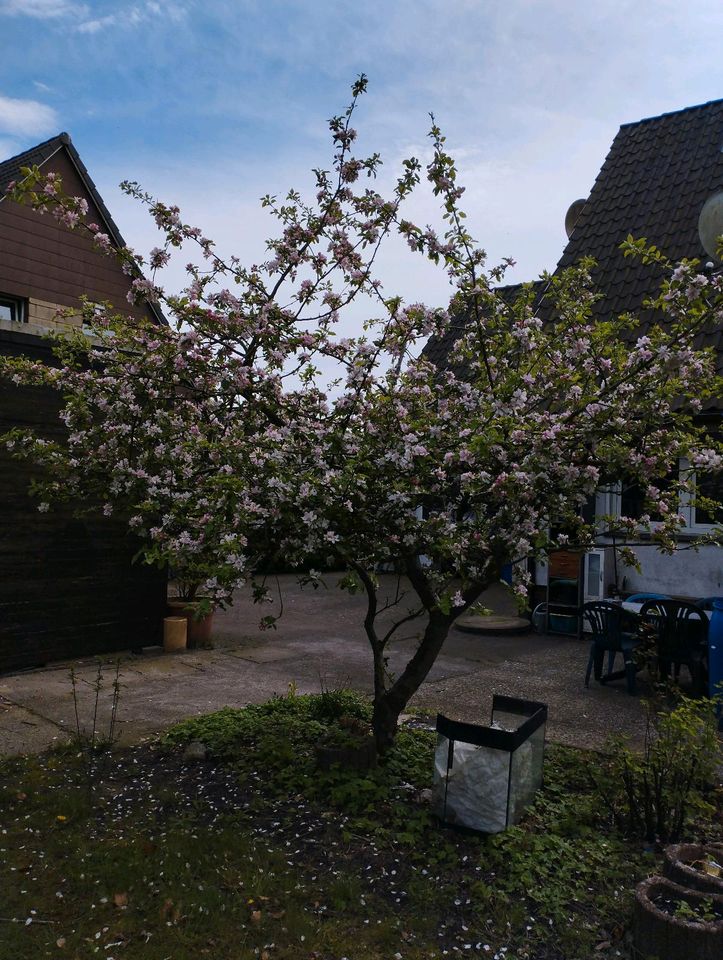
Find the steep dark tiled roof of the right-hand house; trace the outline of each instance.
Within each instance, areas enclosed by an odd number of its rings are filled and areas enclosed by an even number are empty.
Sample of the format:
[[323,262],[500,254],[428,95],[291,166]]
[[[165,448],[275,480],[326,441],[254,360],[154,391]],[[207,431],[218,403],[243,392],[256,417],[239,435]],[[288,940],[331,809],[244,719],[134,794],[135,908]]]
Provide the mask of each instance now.
[[[613,141],[557,269],[583,256],[593,257],[597,261],[593,281],[603,293],[596,315],[640,314],[642,300],[656,292],[662,271],[623,257],[620,244],[632,234],[645,237],[673,260],[698,257],[706,262],[710,258],[698,237],[698,217],[706,199],[722,189],[723,100],[626,123]],[[653,319],[650,313],[640,315],[643,321]],[[710,330],[701,337],[703,344],[717,350],[723,366],[723,331]],[[443,362],[441,351],[430,347],[437,362]]]

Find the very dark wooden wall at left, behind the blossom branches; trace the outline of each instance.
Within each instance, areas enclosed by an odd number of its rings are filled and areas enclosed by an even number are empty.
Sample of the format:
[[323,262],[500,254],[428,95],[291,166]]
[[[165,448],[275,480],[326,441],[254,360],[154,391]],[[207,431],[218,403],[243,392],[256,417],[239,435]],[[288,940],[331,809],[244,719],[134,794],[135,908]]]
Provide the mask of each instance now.
[[[48,344],[0,331],[0,352],[52,362]],[[51,390],[0,381],[0,433],[12,426],[62,436]],[[160,643],[165,572],[133,565],[119,519],[40,513],[33,470],[0,448],[0,670]]]

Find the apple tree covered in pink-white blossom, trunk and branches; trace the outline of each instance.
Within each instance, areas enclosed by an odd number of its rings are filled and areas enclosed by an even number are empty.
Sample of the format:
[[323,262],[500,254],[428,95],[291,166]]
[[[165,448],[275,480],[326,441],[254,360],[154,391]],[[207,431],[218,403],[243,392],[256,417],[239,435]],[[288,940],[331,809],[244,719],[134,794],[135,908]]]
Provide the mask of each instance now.
[[[364,87],[362,78],[352,105],[331,121],[333,168],[315,171],[315,200],[296,191],[283,203],[265,199],[282,226],[267,261],[223,258],[176,207],[127,184],[164,243],[148,263],[127,249],[110,252],[134,277],[133,297],[162,303],[169,325],[88,304],[94,337],[60,343],[59,367],[15,361],[5,373],[49,383],[65,398],[67,446],[22,432],[8,438],[49,468],[41,506],[73,489],[106,511],[123,510],[147,560],[187,571],[216,600],[247,576],[262,544],[302,567],[319,554],[343,565],[342,585],[366,595],[383,752],[455,618],[502,567],[592,542],[581,514],[598,487],[621,476],[640,483],[662,517],[652,536],[674,549],[680,490],[661,481],[680,457],[693,468],[720,467],[693,416],[716,389],[713,358],[695,339],[720,324],[723,284],[695,262],[667,264],[630,240],[630,255],[669,268],[655,300],[661,322],[645,336],[630,316],[593,319],[589,262],[545,278],[542,314],[532,288],[503,299],[495,284],[506,265],[488,269],[467,230],[436,126],[426,175],[441,201],[441,235],[403,217],[418,161],[405,163],[390,198],[372,189],[379,157],[352,152]],[[57,180],[29,170],[13,196],[109,247]],[[391,231],[446,269],[449,305],[404,304],[382,290],[374,263]],[[203,267],[189,265],[180,295],[143,278],[189,243]],[[359,298],[370,319],[361,334],[340,338],[338,321]],[[459,336],[438,369],[420,344],[450,325]],[[330,361],[338,371],[331,389],[321,373]],[[639,522],[615,518],[631,536]],[[381,567],[403,578],[392,597]],[[526,567],[515,571],[524,597]],[[393,676],[389,646],[416,623],[416,649]]]

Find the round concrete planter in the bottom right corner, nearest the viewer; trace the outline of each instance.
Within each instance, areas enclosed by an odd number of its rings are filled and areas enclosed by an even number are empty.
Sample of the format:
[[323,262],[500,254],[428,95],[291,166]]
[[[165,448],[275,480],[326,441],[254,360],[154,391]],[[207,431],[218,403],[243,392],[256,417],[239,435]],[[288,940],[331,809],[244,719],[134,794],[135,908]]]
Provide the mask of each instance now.
[[712,900],[722,911],[723,897],[686,890],[665,877],[650,877],[635,891],[633,943],[641,957],[656,960],[720,960],[723,920],[694,922],[666,913],[654,901],[685,901],[691,907]]

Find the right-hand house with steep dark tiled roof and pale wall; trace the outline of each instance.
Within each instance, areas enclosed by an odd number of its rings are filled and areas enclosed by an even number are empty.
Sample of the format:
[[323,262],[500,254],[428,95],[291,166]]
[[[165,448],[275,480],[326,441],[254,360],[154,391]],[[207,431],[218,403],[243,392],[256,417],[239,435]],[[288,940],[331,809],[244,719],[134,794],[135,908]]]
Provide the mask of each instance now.
[[[604,318],[635,311],[643,322],[650,312],[640,314],[647,294],[655,293],[662,271],[639,260],[626,259],[619,247],[632,234],[645,237],[671,259],[697,257],[711,260],[699,236],[698,221],[706,200],[723,190],[723,100],[711,101],[659,117],[624,124],[603,163],[590,195],[575,201],[567,214],[568,243],[557,265],[562,270],[591,256],[597,262],[593,282],[603,298],[595,304],[596,315]],[[721,269],[714,264],[713,269]],[[514,299],[519,287],[503,288],[504,297]],[[542,284],[537,293],[543,292]],[[545,305],[540,305],[544,314]],[[430,341],[426,353],[443,365],[460,329]],[[642,331],[644,332],[644,330]],[[638,333],[639,335],[639,333]],[[700,345],[717,351],[723,367],[723,331],[712,330]],[[723,401],[717,398],[701,411],[701,422],[714,432],[720,429]],[[709,496],[723,499],[721,483],[713,477],[699,478]],[[635,488],[621,479],[615,490],[600,493],[599,514],[635,516],[642,502]],[[659,592],[693,598],[723,595],[723,551],[706,546],[698,552],[685,550],[696,536],[713,528],[714,518],[690,502],[681,503],[687,526],[680,537],[681,550],[663,556],[644,540],[636,554],[641,571],[624,567],[610,549],[611,538],[602,538],[599,549],[584,558],[575,585],[576,560],[553,558],[550,565],[537,564],[536,599],[546,598],[548,576],[566,581],[570,605],[582,600],[609,596],[615,590],[626,593]],[[720,518],[718,518],[720,521]],[[560,565],[560,570],[556,569]]]

